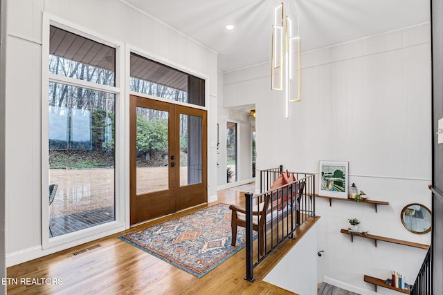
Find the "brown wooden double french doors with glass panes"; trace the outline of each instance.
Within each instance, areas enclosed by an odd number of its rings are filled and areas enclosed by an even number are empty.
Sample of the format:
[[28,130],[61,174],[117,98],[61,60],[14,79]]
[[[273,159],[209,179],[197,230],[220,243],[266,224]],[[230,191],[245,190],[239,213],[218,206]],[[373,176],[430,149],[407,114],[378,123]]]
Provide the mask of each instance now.
[[130,96],[131,224],[207,202],[206,111]]

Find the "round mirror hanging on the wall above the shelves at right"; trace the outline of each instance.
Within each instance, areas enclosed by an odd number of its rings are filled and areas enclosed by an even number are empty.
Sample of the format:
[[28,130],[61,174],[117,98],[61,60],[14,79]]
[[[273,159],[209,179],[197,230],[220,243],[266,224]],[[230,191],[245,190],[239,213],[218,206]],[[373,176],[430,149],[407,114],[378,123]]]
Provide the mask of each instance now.
[[401,222],[414,234],[426,234],[431,231],[431,210],[422,204],[408,204],[401,210]]

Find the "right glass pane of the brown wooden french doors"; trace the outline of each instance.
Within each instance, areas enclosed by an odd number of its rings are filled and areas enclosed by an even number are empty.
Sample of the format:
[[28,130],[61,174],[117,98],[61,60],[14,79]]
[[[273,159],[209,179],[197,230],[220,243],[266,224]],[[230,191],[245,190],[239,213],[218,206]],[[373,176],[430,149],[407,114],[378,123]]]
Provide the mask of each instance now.
[[201,117],[180,114],[180,185],[201,182]]

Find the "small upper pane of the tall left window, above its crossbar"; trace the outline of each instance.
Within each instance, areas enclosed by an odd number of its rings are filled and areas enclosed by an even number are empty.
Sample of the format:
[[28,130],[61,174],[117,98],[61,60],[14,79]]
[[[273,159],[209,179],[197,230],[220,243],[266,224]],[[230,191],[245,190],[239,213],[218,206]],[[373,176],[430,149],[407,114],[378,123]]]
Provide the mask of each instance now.
[[49,73],[116,85],[116,49],[51,26]]

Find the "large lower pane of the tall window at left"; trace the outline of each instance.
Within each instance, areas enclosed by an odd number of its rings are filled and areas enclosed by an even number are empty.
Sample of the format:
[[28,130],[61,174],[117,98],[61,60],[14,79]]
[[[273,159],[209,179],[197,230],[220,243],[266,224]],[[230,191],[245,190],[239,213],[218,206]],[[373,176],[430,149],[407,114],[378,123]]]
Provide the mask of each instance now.
[[115,95],[49,84],[50,234],[115,220]]

